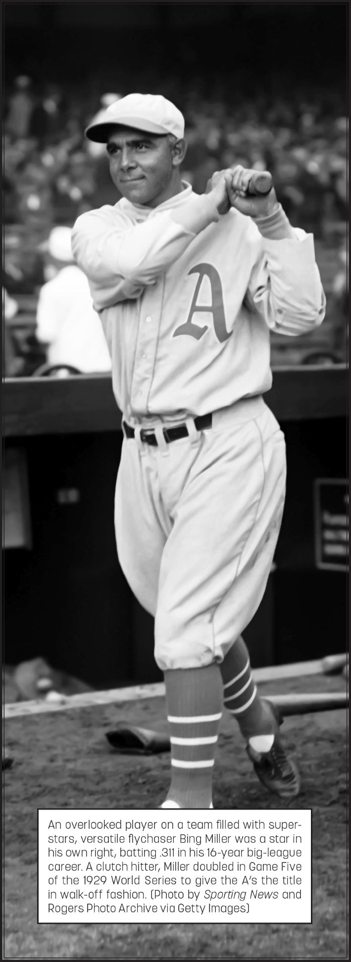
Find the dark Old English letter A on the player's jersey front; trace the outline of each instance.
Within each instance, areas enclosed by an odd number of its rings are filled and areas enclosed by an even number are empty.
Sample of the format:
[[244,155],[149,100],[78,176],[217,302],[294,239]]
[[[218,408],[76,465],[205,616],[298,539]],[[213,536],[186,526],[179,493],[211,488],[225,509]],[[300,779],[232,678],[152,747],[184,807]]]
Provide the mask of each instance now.
[[[213,316],[213,328],[217,340],[221,343],[228,341],[232,331],[227,331],[225,325],[223,291],[218,271],[213,267],[213,264],[197,264],[188,271],[188,276],[190,274],[198,274],[199,276],[192,297],[188,319],[185,324],[181,324],[180,327],[176,328],[173,338],[178,338],[181,334],[188,334],[189,338],[196,338],[196,341],[200,341],[200,338],[208,331],[209,325],[205,324],[201,327],[200,324],[196,324],[192,318],[200,312],[201,314],[206,312]],[[206,305],[198,303],[197,300],[205,277],[208,277],[212,291],[211,303]]]

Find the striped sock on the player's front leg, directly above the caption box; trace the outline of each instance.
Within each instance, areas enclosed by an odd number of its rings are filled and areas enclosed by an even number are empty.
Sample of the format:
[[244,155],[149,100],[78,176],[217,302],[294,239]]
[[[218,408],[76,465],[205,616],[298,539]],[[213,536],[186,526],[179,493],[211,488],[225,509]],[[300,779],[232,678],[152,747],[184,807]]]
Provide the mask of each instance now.
[[218,665],[164,671],[172,780],[166,801],[210,808],[214,751],[222,715]]

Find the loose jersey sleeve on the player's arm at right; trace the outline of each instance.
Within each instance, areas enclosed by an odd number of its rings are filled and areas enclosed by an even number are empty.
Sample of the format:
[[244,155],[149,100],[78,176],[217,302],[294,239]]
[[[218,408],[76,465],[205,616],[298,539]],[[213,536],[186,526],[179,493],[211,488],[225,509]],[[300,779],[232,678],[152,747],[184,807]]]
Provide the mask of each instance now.
[[315,263],[313,235],[293,228],[281,212],[257,221],[260,253],[247,291],[248,303],[263,315],[271,331],[296,337],[318,327],[326,299]]

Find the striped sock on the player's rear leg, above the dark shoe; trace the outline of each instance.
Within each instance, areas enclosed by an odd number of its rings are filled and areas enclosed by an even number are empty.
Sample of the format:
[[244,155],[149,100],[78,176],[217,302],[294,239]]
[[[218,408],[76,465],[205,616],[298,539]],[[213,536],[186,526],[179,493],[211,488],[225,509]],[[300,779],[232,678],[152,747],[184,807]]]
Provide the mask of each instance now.
[[250,656],[243,638],[227,651],[221,663],[224,706],[237,719],[241,734],[258,750],[269,751],[277,728],[269,705],[258,694]]

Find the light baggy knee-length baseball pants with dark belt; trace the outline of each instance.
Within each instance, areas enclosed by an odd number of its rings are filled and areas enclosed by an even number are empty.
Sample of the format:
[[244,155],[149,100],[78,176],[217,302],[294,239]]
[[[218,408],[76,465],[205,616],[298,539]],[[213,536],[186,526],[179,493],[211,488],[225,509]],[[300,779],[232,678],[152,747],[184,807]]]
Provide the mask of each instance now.
[[[262,397],[159,446],[124,438],[115,492],[119,562],[155,617],[162,671],[221,662],[262,601],[286,493],[284,434]],[[139,425],[139,427],[142,425]],[[167,423],[169,427],[169,423]]]

